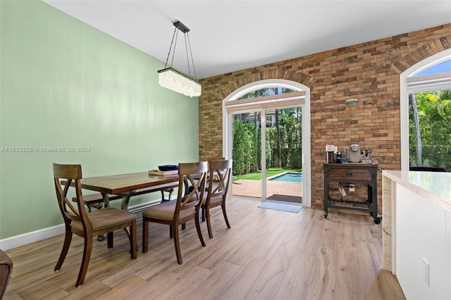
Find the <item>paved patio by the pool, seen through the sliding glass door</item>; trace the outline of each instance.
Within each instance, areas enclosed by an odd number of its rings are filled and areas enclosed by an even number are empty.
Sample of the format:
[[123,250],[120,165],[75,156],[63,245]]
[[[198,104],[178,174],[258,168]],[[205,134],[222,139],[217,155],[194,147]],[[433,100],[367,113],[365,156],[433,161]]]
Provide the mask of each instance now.
[[[261,198],[261,180],[237,180],[232,194]],[[266,180],[266,199],[302,203],[302,182]]]

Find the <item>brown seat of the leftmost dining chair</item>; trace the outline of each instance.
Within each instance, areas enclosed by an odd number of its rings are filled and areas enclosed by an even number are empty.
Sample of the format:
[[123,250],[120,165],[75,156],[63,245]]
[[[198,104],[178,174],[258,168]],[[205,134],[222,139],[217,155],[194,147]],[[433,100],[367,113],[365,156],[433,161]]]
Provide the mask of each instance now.
[[[127,223],[136,219],[135,213],[130,211],[124,211],[118,208],[106,207],[88,213],[89,220],[91,221],[92,230],[101,230],[107,227],[111,227],[120,223]],[[83,230],[82,223],[73,221],[70,225],[78,230]]]

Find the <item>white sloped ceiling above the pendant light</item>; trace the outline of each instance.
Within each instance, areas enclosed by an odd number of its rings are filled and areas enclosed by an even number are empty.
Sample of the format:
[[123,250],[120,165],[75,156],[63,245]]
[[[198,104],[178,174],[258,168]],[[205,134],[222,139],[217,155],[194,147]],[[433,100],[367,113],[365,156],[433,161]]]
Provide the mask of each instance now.
[[[450,0],[44,1],[163,62],[180,20],[198,79],[451,23]],[[187,72],[183,35],[173,66]]]

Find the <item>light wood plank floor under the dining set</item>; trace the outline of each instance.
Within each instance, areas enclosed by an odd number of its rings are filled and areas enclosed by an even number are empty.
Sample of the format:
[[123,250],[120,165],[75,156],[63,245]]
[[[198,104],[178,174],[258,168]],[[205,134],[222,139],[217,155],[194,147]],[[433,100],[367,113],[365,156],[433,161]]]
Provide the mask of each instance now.
[[125,232],[115,233],[113,249],[94,241],[79,288],[80,237],[57,273],[63,235],[10,249],[14,268],[4,299],[404,299],[396,277],[382,270],[382,225],[373,218],[330,210],[325,220],[320,210],[286,213],[259,203],[229,199],[231,229],[214,210],[213,239],[201,223],[206,247],[194,221],[187,223],[180,231],[183,265],[168,226],[150,225],[149,252],[134,261]]

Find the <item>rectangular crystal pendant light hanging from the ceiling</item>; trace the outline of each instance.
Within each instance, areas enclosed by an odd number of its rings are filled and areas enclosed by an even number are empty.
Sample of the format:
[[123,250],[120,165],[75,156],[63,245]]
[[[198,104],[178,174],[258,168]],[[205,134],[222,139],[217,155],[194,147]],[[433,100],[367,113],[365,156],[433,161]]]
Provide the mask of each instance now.
[[[166,87],[166,89],[171,89],[174,92],[184,94],[185,96],[190,96],[190,97],[200,96],[201,85],[196,79],[196,69],[194,68],[194,60],[192,59],[190,36],[188,35],[190,28],[186,27],[180,21],[175,21],[173,23],[173,25],[175,26],[175,29],[174,29],[174,33],[172,36],[171,46],[169,47],[168,58],[166,58],[166,63],[164,65],[164,69],[158,71],[159,85],[161,85],[161,87]],[[186,50],[186,58],[187,58],[187,63],[188,63],[188,75],[180,72],[179,70],[175,70],[175,68],[172,67],[172,64],[174,61],[175,46],[177,46],[178,30],[183,32],[183,35],[185,36],[185,50]],[[173,48],[173,46],[174,46],[174,48]],[[188,48],[189,48],[189,51],[188,51]],[[169,61],[169,56],[171,56],[171,51],[172,51],[171,65],[168,66],[168,61]],[[191,56],[191,63],[192,63],[192,70],[194,73],[194,77],[191,76],[190,56]]]

